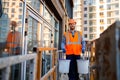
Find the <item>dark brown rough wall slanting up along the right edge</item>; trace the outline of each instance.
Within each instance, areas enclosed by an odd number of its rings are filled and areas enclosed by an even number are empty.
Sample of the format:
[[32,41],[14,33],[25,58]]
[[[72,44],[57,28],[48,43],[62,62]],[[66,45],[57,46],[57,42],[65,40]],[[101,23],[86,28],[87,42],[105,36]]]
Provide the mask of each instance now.
[[120,80],[120,22],[96,40],[97,80]]

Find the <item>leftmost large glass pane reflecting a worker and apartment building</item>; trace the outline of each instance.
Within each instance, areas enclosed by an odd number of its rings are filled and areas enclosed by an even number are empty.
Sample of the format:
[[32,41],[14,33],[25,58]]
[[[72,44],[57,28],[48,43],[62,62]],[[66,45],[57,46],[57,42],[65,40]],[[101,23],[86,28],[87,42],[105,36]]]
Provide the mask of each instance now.
[[2,0],[2,9],[0,56],[21,54],[23,3],[20,0]]

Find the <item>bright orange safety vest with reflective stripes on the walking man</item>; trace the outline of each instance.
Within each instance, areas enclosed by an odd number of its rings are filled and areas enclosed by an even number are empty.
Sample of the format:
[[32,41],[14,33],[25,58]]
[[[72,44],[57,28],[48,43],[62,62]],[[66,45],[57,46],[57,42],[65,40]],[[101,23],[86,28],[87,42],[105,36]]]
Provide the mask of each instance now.
[[64,34],[65,38],[66,38],[66,55],[80,55],[81,51],[82,51],[82,45],[81,45],[81,41],[82,41],[82,36],[80,34],[80,32],[76,31],[74,33],[74,37],[72,37],[72,33],[71,32],[66,32]]

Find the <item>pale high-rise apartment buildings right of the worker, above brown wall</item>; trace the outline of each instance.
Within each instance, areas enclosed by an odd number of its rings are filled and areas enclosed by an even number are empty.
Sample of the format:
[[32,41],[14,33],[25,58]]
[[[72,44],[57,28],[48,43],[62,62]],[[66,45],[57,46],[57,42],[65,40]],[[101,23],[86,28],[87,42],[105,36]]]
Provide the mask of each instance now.
[[120,20],[120,0],[74,0],[76,29],[86,41],[99,38],[112,23]]

